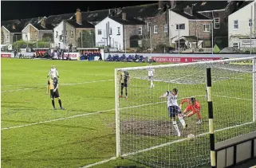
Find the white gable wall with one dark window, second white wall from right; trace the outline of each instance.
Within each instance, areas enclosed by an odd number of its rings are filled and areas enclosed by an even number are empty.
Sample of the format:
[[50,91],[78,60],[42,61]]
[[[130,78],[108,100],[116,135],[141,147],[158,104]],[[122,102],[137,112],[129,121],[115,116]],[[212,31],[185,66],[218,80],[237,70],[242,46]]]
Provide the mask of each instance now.
[[[179,37],[189,36],[189,24],[188,19],[176,14],[175,12],[169,12],[169,37],[170,43],[175,43]],[[185,24],[185,29],[176,30],[176,24]]]

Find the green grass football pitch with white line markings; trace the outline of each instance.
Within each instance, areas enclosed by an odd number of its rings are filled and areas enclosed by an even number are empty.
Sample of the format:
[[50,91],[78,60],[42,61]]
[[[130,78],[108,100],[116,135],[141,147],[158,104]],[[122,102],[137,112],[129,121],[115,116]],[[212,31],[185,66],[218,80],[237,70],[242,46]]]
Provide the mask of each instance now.
[[[18,59],[1,61],[2,167],[78,168],[115,157],[114,68],[144,66],[146,63]],[[49,95],[46,95],[46,76],[53,64],[60,74],[59,93],[64,111],[53,111]],[[181,71],[179,75],[183,76]],[[163,160],[168,152],[183,150],[183,166],[189,166],[190,162],[199,162],[198,165],[201,165],[202,160],[209,162],[209,140],[207,135],[203,135],[208,131],[205,84],[197,84],[195,88],[189,84],[170,86],[158,78],[156,87],[149,89],[150,83],[144,79],[147,72],[131,72],[131,76],[136,78],[132,79],[128,88],[128,99],[120,99],[120,128],[122,133],[126,133],[121,135],[122,152],[129,158],[132,152],[186,138],[177,138],[172,133],[169,136],[170,132],[166,130],[173,129],[171,123],[168,123],[170,120],[167,117],[166,103],[158,99],[169,87],[175,86],[181,91],[190,91],[181,92],[179,98],[193,95],[202,104],[202,117],[205,122],[201,126],[194,124],[195,128],[188,130],[199,135],[199,140],[193,143],[188,143],[187,140],[184,143],[175,143],[179,145],[174,144],[168,151],[161,147],[141,151],[132,154],[131,159],[144,162],[148,155],[148,159]],[[212,77],[213,80],[215,77]],[[214,106],[215,130],[218,130],[216,143],[256,129],[256,124],[252,123],[251,74],[245,73],[225,81],[217,82],[214,88],[214,104],[218,104]],[[58,107],[57,100],[55,105]],[[187,119],[189,124],[195,121],[194,115]],[[132,125],[132,131],[129,125]],[[134,127],[140,129],[135,130]],[[163,150],[165,154],[161,155]],[[142,152],[144,158],[141,158]],[[202,153],[201,158],[186,159],[196,152]],[[152,155],[156,158],[151,158]],[[178,154],[173,156],[177,157],[173,158],[173,164],[179,165]],[[141,166],[132,160],[112,159],[93,167]]]

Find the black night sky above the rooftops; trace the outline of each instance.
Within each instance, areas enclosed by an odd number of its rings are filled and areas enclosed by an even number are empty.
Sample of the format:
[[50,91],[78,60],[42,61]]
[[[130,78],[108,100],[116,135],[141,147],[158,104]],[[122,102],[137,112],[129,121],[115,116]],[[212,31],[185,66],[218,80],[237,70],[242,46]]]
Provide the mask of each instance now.
[[[157,2],[157,1],[156,1]],[[136,6],[154,1],[1,1],[1,20],[48,17],[56,14],[75,13],[81,11],[104,10],[124,6]]]

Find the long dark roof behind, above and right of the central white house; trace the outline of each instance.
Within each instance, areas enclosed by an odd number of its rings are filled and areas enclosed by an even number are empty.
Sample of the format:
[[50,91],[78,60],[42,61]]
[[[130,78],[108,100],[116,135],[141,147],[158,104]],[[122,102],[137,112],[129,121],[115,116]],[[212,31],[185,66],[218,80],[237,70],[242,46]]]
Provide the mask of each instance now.
[[154,17],[158,14],[158,3],[152,3],[141,6],[126,6],[121,9],[120,16],[122,13],[126,13],[130,18],[149,18]]

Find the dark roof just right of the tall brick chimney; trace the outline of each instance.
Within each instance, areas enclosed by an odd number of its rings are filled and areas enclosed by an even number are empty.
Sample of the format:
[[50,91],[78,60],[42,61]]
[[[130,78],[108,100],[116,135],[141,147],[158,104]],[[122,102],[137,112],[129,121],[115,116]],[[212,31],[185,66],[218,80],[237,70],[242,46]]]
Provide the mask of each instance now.
[[108,17],[109,15],[113,14],[114,9],[108,10],[95,10],[89,12],[82,12],[81,17],[82,21],[102,21],[104,18]]

